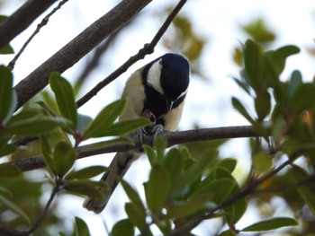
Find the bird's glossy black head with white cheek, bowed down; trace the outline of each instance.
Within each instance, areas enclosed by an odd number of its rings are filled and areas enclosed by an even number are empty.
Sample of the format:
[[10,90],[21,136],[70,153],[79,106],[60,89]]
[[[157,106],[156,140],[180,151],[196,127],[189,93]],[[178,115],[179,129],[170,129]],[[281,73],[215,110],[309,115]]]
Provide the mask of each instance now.
[[158,118],[179,106],[186,95],[190,68],[184,57],[167,53],[150,62],[143,69],[146,109]]

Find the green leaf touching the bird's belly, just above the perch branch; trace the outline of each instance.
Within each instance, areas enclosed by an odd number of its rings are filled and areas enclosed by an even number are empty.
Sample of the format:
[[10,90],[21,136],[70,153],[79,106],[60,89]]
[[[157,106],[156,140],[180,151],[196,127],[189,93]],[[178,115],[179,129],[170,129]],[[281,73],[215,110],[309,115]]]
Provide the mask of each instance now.
[[127,135],[132,131],[139,129],[140,127],[145,127],[150,125],[151,122],[148,118],[132,118],[121,120],[104,130],[102,136],[119,136],[119,135]]

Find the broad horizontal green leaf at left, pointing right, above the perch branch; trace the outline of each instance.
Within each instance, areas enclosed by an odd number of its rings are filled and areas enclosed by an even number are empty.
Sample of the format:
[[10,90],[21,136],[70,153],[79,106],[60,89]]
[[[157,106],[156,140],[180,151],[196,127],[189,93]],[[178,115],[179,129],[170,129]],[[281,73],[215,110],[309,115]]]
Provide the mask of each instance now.
[[5,127],[5,132],[12,135],[41,135],[55,127],[67,127],[69,121],[65,118],[27,118],[10,122]]

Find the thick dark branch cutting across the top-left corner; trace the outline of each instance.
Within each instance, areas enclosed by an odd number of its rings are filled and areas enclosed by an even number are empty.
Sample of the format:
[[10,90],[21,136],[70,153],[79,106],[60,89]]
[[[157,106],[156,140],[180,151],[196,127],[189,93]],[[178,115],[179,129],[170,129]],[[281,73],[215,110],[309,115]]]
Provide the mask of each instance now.
[[0,23],[0,48],[24,31],[56,0],[28,0],[15,13]]

